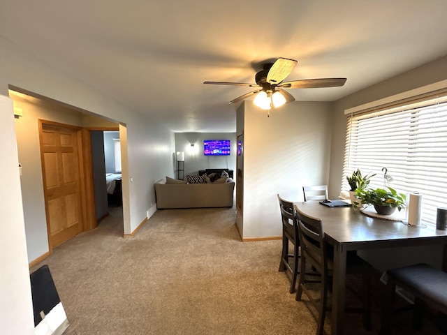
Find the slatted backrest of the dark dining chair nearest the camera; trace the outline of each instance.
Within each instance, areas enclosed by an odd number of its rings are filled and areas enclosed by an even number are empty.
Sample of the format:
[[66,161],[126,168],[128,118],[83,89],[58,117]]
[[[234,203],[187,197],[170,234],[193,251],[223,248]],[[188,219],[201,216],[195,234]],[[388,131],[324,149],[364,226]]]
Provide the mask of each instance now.
[[323,276],[328,273],[328,255],[324,241],[324,230],[321,219],[304,214],[295,206],[298,217],[298,235],[301,255],[306,262],[312,264]]

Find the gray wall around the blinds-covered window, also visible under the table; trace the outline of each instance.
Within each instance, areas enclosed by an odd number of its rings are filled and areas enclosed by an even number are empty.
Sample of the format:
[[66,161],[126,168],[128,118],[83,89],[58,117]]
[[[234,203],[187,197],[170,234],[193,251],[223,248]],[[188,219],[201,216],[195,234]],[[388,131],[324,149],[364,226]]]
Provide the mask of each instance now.
[[[447,56],[335,101],[331,121],[332,149],[329,181],[331,198],[339,194],[342,184],[344,139],[346,136],[344,110],[446,79]],[[444,207],[447,206],[447,199],[441,200],[441,202],[444,203]],[[383,249],[363,251],[361,255],[382,271],[414,262],[428,262],[441,267],[442,247]]]

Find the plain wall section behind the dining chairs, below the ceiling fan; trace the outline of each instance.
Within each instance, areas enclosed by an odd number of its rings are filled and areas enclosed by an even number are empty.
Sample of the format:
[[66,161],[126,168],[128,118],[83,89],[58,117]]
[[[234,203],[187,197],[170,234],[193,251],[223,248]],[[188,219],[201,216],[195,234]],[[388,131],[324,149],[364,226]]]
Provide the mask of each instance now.
[[302,201],[302,186],[328,184],[332,104],[288,103],[270,117],[244,106],[243,238],[279,237],[277,193]]

